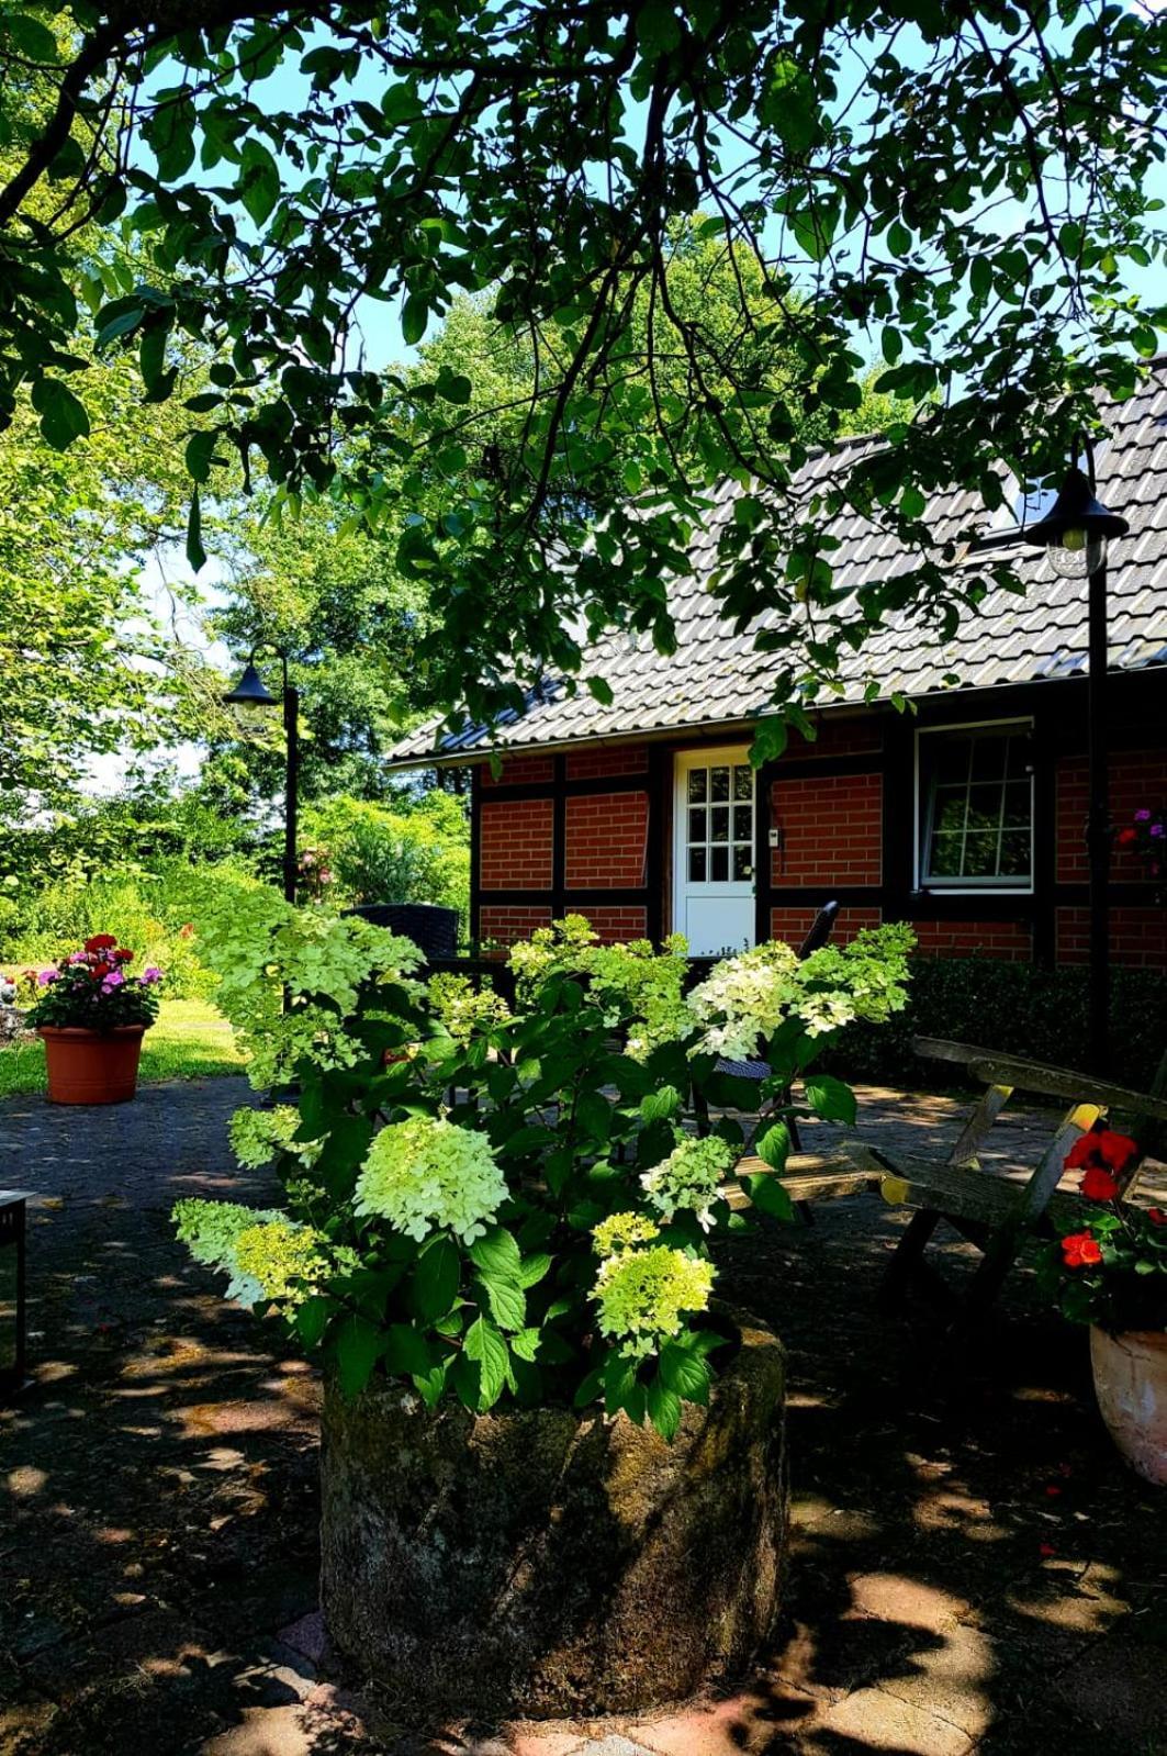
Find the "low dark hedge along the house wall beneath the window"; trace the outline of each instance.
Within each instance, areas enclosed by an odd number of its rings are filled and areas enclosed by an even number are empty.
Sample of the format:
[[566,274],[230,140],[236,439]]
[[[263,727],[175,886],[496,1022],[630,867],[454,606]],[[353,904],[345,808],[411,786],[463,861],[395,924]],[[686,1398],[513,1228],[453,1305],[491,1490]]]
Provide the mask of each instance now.
[[[1000,1048],[1060,1068],[1085,1068],[1083,964],[1056,969],[993,957],[914,957],[911,999],[888,1024],[853,1024],[825,1059],[844,1078],[872,1085],[951,1089],[960,1071],[925,1061],[913,1036]],[[1149,1090],[1167,1050],[1167,980],[1153,969],[1111,973],[1111,1061],[1118,1080]]]

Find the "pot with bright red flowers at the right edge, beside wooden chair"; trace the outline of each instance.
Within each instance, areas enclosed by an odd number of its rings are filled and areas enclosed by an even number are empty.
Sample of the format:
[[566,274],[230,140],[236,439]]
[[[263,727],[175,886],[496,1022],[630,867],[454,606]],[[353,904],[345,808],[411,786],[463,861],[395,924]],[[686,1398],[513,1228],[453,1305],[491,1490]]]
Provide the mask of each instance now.
[[1139,1159],[1128,1134],[1097,1124],[1070,1150],[1092,1203],[1081,1229],[1049,1245],[1044,1275],[1063,1312],[1090,1324],[1099,1410],[1120,1452],[1167,1484],[1167,1212],[1123,1201]]

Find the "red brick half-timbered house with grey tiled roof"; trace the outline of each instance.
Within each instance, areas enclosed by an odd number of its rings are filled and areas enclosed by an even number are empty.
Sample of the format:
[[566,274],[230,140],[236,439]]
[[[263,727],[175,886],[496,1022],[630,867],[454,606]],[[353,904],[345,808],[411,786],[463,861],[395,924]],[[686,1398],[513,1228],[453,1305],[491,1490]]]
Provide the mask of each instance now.
[[[813,458],[800,486],[821,486],[841,455]],[[1102,497],[1130,520],[1109,569],[1121,825],[1167,802],[1167,362],[1114,409],[1097,464]],[[1025,599],[990,595],[948,644],[900,615],[846,660],[844,694],[816,715],[816,741],[791,736],[756,773],[751,727],[777,660],[712,609],[709,532],[670,587],[677,653],[658,657],[646,636],[590,653],[586,673],[607,680],[611,706],[544,687],[505,723],[407,738],[395,767],[472,766],[472,938],[509,943],[574,910],[605,939],[681,931],[700,955],[798,939],[837,897],[842,938],[911,920],[928,954],[1085,961],[1086,587],[1023,546],[1021,497],[990,537],[1014,558]],[[730,509],[727,492],[718,516]],[[937,541],[974,511],[970,497],[949,495]],[[1027,513],[1037,516],[1032,500]],[[834,534],[839,583],[858,588],[907,565],[855,513]],[[870,681],[877,697],[865,701]],[[491,750],[504,755],[498,776]],[[1114,961],[1167,968],[1167,910],[1123,848],[1111,901]]]

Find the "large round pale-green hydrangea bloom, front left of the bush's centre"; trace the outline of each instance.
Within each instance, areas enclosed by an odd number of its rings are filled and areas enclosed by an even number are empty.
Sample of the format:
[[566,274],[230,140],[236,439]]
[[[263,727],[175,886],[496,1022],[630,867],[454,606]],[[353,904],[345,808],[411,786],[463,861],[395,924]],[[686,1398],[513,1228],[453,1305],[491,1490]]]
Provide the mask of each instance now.
[[505,1199],[505,1178],[484,1134],[414,1115],[374,1138],[354,1212],[388,1219],[418,1243],[432,1231],[474,1243]]

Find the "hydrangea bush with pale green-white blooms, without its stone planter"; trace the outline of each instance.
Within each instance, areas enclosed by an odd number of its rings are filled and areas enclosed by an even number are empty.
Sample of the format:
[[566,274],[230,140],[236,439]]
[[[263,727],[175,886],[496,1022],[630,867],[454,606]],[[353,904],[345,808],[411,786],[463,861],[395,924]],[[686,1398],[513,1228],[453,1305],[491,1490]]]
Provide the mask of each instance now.
[[[179,1236],[347,1394],[602,1403],[672,1436],[732,1345],[711,1245],[790,1217],[758,1159],[783,1169],[791,1117],[853,1115],[813,1062],[835,1022],[904,1003],[907,946],[902,927],[805,964],[760,946],[686,996],[683,941],[600,946],[572,917],[514,948],[511,1010],[463,978],[423,985],[414,946],[360,920],[288,911],[258,945],[232,922],[207,948],[239,961],[232,1017],[300,1089],[232,1138],[274,1159],[286,1213],[188,1201]],[[727,1052],[769,1073],[739,1078]]]

